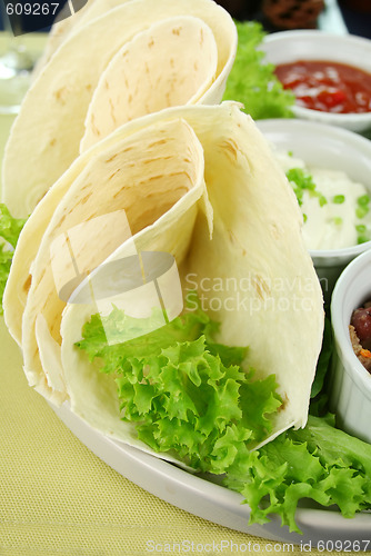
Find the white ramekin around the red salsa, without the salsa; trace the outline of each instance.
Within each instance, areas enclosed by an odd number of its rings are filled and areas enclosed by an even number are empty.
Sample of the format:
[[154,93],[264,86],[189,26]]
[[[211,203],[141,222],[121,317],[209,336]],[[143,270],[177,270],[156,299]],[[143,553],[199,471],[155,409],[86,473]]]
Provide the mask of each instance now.
[[[352,34],[333,34],[318,30],[282,31],[268,34],[260,50],[264,60],[278,66],[298,60],[325,60],[345,63],[371,73],[371,40]],[[371,112],[331,113],[294,106],[298,118],[340,126],[352,131],[371,128]]]

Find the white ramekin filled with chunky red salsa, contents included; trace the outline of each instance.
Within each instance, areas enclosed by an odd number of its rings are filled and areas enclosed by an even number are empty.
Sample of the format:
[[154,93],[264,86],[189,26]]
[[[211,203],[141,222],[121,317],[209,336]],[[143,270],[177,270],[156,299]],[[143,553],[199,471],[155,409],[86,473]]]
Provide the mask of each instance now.
[[295,116],[344,127],[371,129],[371,41],[318,30],[265,37],[265,61],[293,92]]

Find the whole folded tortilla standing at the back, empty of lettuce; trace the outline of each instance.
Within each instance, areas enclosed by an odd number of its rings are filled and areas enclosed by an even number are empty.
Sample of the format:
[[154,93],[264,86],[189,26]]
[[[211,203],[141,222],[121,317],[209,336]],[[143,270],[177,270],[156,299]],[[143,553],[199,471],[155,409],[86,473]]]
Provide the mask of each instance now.
[[[172,24],[172,18],[182,17]],[[160,22],[169,48],[156,27]],[[189,32],[192,40],[184,49]],[[26,95],[6,147],[3,202],[14,216],[29,216],[78,157],[87,116],[90,139],[84,147],[92,142],[96,118],[111,119],[109,132],[116,120],[119,126],[154,109],[220,102],[235,50],[235,26],[212,0],[157,0],[156,8],[152,0],[94,0]],[[130,71],[122,83],[114,79],[120,61],[121,72]],[[110,91],[104,91],[107,86]],[[97,87],[100,92],[88,115]]]

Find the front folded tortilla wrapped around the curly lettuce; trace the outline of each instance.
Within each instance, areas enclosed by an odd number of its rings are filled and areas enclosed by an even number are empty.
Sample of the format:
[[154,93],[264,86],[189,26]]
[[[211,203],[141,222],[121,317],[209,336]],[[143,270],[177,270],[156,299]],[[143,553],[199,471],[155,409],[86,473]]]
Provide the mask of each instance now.
[[[157,148],[168,132],[172,139],[162,143],[159,155]],[[138,158],[140,145],[148,152],[143,165]],[[153,180],[149,173],[161,157],[163,163],[170,160],[168,176],[173,163],[182,168],[187,185],[174,196],[177,181],[172,186],[166,179],[163,187],[162,179]],[[138,165],[138,173],[131,173]],[[116,185],[120,196],[106,195],[110,177],[120,171],[122,180]],[[130,188],[132,178],[138,187]],[[63,187],[66,195],[57,201]],[[141,219],[144,199],[148,210],[156,210],[149,221]],[[41,206],[53,214],[50,224],[44,228],[37,210],[23,229],[16,257],[27,252],[32,242],[29,234],[37,229],[42,240],[31,264],[22,349],[29,381],[43,396],[56,403],[69,399],[71,409],[93,427],[133,444],[133,430],[120,420],[118,401],[112,399],[113,379],[99,374],[74,347],[97,307],[66,304],[58,297],[50,258],[53,240],[66,230],[104,211],[124,210],[132,236],[116,248],[120,238],[109,234],[97,248],[97,238],[90,241],[86,234],[81,240],[88,247],[87,255],[81,248],[86,268],[102,259],[104,265],[118,261],[133,247],[137,252],[172,254],[183,292],[197,289],[207,311],[221,322],[218,341],[249,346],[248,364],[257,378],[277,377],[284,404],[265,441],[291,426],[304,426],[323,331],[321,287],[302,241],[302,216],[292,189],[265,139],[235,103],[171,108],[128,122],[81,155]],[[131,206],[137,207],[137,217],[130,215]],[[114,232],[114,227],[110,229]],[[11,272],[7,288],[27,276],[28,270],[23,277]],[[6,314],[8,302],[9,297]]]

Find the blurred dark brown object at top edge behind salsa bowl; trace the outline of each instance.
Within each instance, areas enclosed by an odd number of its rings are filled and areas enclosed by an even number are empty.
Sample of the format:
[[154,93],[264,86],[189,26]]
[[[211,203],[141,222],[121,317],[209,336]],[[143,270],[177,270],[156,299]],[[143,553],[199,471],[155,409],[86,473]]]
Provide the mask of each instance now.
[[315,29],[323,0],[263,0],[262,13],[275,30]]

